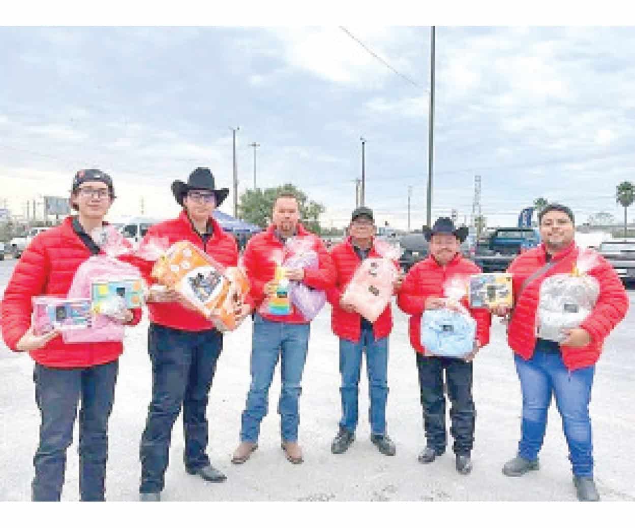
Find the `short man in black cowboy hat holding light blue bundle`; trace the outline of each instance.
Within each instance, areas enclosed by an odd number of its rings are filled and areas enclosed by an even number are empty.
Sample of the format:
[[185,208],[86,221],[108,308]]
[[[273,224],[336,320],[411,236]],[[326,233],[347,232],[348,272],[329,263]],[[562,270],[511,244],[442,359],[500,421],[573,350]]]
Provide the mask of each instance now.
[[[421,463],[431,463],[445,453],[445,397],[443,396],[443,371],[447,378],[448,397],[452,403],[450,433],[454,437],[452,450],[456,455],[456,468],[467,475],[472,471],[471,451],[474,445],[474,421],[476,409],[472,399],[472,359],[478,350],[490,342],[490,312],[471,309],[476,320],[476,342],[471,353],[462,359],[437,357],[421,344],[421,316],[424,310],[436,310],[446,306],[444,287],[452,278],[466,278],[480,273],[473,262],[460,255],[460,243],[467,236],[467,228],[455,229],[448,217],[441,217],[425,233],[430,243],[430,255],[415,264],[399,290],[398,305],[411,314],[410,343],[417,351],[421,405],[424,411],[426,447],[419,455]],[[462,303],[467,307],[465,297]]]

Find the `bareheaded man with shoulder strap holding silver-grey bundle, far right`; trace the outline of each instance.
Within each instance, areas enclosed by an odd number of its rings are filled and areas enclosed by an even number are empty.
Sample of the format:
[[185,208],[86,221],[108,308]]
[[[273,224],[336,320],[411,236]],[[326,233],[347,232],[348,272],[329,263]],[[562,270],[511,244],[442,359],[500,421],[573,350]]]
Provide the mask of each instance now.
[[[613,267],[595,255],[596,264],[588,274],[597,281],[599,296],[591,314],[577,328],[566,330],[559,342],[537,337],[542,284],[554,275],[570,276],[580,255],[580,248],[573,241],[575,220],[570,208],[556,203],[547,205],[538,214],[538,222],[542,243],[516,257],[507,270],[513,274],[516,300],[507,341],[514,351],[523,416],[518,455],[505,463],[503,473],[517,477],[538,469],[538,451],[553,394],[569,446],[577,497],[581,501],[597,501],[589,416],[593,375],[604,340],[624,318],[629,301]],[[498,310],[497,314],[505,315],[505,311]]]

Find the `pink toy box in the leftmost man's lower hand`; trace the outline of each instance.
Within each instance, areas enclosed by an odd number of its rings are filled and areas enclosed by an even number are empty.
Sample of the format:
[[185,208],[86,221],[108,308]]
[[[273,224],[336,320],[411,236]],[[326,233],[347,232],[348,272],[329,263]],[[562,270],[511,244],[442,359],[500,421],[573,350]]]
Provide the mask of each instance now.
[[90,328],[90,299],[65,299],[52,295],[33,297],[33,327],[35,335],[51,330]]

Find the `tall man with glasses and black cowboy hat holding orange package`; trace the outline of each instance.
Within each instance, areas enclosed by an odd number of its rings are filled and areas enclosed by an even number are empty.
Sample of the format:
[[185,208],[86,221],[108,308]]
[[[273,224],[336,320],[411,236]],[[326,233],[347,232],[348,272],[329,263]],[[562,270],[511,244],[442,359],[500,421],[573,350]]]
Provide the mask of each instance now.
[[[183,207],[178,218],[152,226],[144,242],[168,238],[172,244],[188,240],[224,266],[236,266],[234,237],[225,233],[211,213],[227,195],[217,189],[210,169],[198,167],[187,183],[174,181],[172,192]],[[152,263],[135,260],[149,285]],[[208,394],[223,345],[223,335],[213,323],[196,312],[179,293],[150,287],[148,352],[152,361],[152,401],[141,439],[141,486],[143,501],[158,501],[164,487],[172,426],[183,409],[185,470],[211,482],[225,475],[210,465],[206,418]],[[245,313],[241,316],[246,315]]]

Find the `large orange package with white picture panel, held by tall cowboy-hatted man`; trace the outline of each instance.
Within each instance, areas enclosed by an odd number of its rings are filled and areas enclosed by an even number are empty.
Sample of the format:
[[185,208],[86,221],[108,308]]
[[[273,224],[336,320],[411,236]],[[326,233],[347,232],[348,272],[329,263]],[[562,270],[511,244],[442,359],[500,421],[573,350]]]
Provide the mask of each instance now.
[[206,318],[229,290],[225,268],[187,240],[173,243],[152,268],[162,285],[182,293]]

